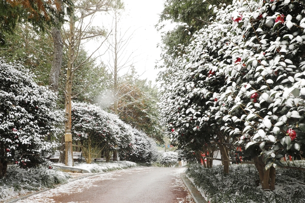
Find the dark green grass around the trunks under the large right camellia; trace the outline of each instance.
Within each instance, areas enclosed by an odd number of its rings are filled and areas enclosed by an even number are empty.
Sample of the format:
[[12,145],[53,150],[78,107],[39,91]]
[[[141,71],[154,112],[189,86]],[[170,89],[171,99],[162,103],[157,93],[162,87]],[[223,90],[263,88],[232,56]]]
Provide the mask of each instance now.
[[[295,164],[299,167],[304,163]],[[186,174],[211,203],[305,203],[304,171],[277,168],[275,191],[261,189],[254,165],[234,164],[225,175],[223,166],[204,168],[192,164]]]

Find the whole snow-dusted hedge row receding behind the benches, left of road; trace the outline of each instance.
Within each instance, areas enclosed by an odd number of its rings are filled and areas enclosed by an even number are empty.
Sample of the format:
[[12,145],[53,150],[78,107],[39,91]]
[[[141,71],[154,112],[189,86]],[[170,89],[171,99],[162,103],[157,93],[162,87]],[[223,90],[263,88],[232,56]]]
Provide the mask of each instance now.
[[117,150],[121,159],[145,163],[157,157],[153,139],[96,105],[72,104],[72,134],[86,148]]

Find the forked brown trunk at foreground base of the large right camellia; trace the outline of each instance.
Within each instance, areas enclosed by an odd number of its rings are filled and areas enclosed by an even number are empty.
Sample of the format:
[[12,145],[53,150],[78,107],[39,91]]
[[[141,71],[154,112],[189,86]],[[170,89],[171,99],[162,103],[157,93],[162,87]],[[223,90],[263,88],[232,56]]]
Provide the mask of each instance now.
[[265,163],[263,162],[263,156],[254,157],[255,167],[258,171],[259,180],[263,190],[274,190],[276,182],[276,168],[271,166],[268,170],[265,170]]

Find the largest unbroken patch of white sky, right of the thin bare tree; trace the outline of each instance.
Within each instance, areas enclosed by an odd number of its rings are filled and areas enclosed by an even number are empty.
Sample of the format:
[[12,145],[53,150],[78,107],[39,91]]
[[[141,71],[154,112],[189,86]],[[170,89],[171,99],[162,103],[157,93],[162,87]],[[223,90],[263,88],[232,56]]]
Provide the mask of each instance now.
[[159,70],[155,70],[156,60],[160,59],[161,33],[157,32],[159,14],[163,10],[164,0],[125,0],[126,13],[129,14],[128,26],[136,30],[132,41],[136,49],[135,67],[141,79],[155,81]]

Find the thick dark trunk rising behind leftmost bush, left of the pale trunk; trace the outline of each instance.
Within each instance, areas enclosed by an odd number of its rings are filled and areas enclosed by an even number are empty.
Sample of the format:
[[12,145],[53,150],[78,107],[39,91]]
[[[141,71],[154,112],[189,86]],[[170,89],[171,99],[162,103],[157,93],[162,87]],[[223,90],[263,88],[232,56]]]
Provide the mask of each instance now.
[[49,87],[53,92],[57,92],[60,67],[62,67],[64,45],[63,45],[62,37],[60,36],[60,30],[57,27],[52,27],[51,33],[54,43],[54,56],[49,75]]

